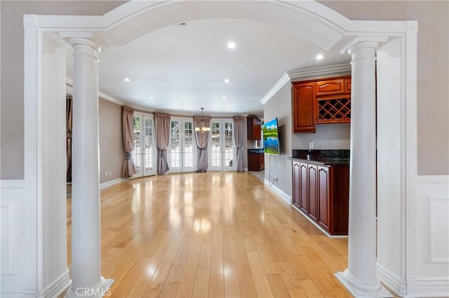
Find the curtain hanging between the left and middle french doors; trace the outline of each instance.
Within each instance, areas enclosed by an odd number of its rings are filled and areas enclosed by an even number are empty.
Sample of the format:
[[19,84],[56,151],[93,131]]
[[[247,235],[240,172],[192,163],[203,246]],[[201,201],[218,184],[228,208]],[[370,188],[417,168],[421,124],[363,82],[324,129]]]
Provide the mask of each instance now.
[[167,148],[170,140],[170,114],[154,113],[156,120],[157,173],[159,175],[169,170]]

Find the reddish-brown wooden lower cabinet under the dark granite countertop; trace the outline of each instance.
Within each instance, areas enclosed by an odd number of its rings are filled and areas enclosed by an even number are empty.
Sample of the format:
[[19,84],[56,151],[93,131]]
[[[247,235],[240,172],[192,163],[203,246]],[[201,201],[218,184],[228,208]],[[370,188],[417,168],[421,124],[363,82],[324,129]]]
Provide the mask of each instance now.
[[329,234],[347,235],[349,166],[293,160],[293,205]]

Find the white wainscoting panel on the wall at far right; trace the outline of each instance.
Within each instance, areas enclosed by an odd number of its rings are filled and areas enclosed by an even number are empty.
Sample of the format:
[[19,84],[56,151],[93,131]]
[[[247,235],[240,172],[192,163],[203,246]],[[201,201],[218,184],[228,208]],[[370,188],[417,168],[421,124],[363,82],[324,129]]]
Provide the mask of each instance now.
[[449,293],[449,176],[417,176],[416,276],[408,276],[408,297]]

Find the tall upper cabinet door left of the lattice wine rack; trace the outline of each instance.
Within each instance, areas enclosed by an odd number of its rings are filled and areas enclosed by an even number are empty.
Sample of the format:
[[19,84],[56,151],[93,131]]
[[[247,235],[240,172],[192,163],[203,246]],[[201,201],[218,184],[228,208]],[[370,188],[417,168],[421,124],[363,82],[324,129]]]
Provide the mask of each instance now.
[[293,84],[293,132],[316,132],[315,83]]

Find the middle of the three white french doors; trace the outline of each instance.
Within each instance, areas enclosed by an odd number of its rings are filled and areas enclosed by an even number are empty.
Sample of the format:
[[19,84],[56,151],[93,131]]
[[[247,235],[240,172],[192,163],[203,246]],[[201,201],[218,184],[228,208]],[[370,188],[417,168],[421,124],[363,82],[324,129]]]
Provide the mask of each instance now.
[[190,118],[171,118],[168,145],[169,173],[196,170],[196,143],[194,121]]

